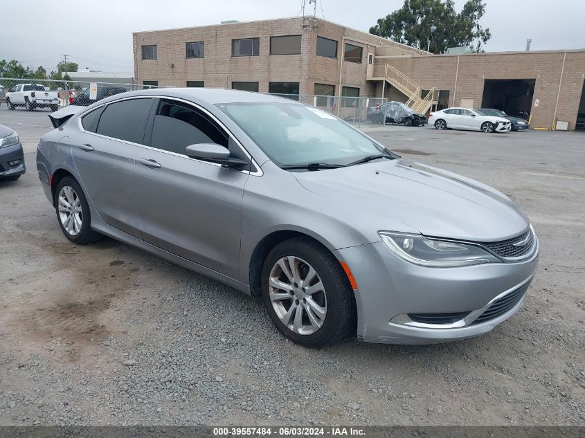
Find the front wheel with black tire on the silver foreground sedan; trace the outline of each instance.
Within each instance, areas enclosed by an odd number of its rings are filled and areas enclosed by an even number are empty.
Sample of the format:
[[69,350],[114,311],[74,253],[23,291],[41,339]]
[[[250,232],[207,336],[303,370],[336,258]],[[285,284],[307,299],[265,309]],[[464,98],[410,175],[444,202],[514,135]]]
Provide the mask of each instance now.
[[262,268],[262,300],[280,333],[323,347],[355,329],[355,300],[339,261],[316,241],[296,237],[275,246]]

